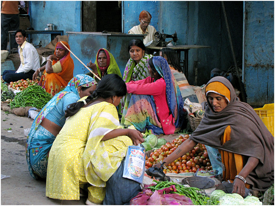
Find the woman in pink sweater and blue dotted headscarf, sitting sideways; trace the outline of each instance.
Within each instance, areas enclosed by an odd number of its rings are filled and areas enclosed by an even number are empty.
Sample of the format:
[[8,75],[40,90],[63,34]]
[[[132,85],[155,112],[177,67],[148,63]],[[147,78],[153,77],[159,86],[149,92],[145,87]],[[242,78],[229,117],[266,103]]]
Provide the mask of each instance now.
[[121,125],[156,135],[173,134],[181,129],[184,118],[179,86],[163,57],[149,60],[149,73],[146,79],[126,83],[132,96],[124,106]]

